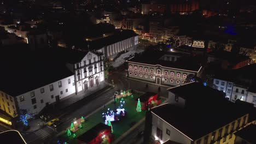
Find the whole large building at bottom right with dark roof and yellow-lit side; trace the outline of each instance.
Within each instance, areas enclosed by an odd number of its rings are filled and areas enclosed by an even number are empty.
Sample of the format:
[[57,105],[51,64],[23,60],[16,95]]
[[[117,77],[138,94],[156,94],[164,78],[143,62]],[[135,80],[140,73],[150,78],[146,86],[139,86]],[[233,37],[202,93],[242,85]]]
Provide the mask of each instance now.
[[[160,143],[234,143],[234,133],[251,122],[245,107],[225,100],[221,92],[201,83],[168,91],[168,103],[151,109],[151,135]],[[209,99],[210,103],[201,102]]]

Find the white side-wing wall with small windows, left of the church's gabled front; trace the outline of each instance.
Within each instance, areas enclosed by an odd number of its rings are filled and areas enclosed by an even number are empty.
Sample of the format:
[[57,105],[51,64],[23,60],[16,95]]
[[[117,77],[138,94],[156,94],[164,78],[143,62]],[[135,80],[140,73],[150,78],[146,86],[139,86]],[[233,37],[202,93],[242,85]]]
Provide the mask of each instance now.
[[[70,83],[68,83],[70,79]],[[34,89],[33,91],[21,94],[17,96],[17,101],[19,109],[25,109],[28,113],[39,113],[44,109],[46,103],[51,104],[56,102],[56,97],[59,95],[60,99],[66,98],[68,95],[75,93],[75,87],[73,86],[74,76],[66,77],[65,79],[60,80],[62,87],[59,88],[58,82],[49,83],[49,85]],[[50,91],[50,85],[53,85],[54,90]],[[44,88],[44,93],[40,92],[40,89]],[[68,92],[66,92],[68,89]],[[34,97],[31,97],[31,92],[34,92]],[[61,94],[62,92],[62,94]],[[53,97],[51,96],[53,95]],[[20,101],[20,97],[24,96],[24,101]],[[32,104],[32,99],[36,98],[36,104]],[[43,100],[43,101],[41,101]],[[36,109],[34,106],[36,105]]]

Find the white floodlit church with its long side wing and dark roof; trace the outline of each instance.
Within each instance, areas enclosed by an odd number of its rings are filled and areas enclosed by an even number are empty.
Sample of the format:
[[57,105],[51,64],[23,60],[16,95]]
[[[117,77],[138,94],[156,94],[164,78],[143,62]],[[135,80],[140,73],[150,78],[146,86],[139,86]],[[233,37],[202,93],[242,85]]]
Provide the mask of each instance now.
[[[46,106],[86,93],[104,81],[103,55],[99,52],[63,47],[39,52],[22,49],[15,55],[1,52],[11,57],[0,59],[1,66],[8,69],[0,75],[0,109],[12,117],[20,110],[38,114]],[[18,61],[18,65],[14,63]],[[16,81],[16,85],[9,81]]]

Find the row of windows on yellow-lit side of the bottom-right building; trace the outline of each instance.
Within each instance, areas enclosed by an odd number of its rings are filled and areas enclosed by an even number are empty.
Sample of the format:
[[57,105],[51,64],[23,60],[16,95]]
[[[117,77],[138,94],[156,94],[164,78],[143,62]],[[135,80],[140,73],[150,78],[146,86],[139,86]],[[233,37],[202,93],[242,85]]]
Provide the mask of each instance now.
[[[240,128],[240,125],[241,125],[241,127],[243,127],[243,125],[245,125],[245,123],[246,123],[246,116],[241,118],[241,119],[237,119],[236,128],[235,128],[235,122],[232,122],[230,126],[226,125],[225,132],[224,132],[223,136],[222,136],[223,128],[219,129],[217,140],[219,140],[221,137],[223,137],[223,142],[226,141],[226,136],[228,135],[229,127],[230,127],[229,139],[231,139],[232,138],[232,132],[235,131],[235,130],[238,130],[238,128]],[[214,142],[216,140],[215,138],[216,138],[216,131],[214,131],[211,135],[211,142]],[[198,144],[201,143],[201,140],[197,140],[196,143],[198,143]],[[208,135],[204,137],[203,143],[208,143]],[[219,141],[217,143],[219,143]]]

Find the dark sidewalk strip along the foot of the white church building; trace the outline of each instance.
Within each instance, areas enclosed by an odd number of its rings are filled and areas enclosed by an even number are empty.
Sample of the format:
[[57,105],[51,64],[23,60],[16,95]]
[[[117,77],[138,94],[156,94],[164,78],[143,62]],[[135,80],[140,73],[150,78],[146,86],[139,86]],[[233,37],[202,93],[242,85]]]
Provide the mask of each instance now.
[[[51,114],[54,116],[54,117],[51,117],[50,120],[55,117],[61,117],[71,112],[72,110],[77,109],[77,107],[79,107],[81,103],[85,104],[85,101],[88,103],[90,100],[97,98],[95,97],[96,95],[102,92],[109,91],[110,89],[113,88],[110,85],[111,84],[107,82],[102,82],[97,87],[88,89],[88,91],[86,92],[80,92],[77,95],[75,94],[69,95],[64,99],[61,99],[59,104],[49,106],[48,109],[45,109],[44,111],[45,113],[47,112],[48,114]],[[96,89],[98,90],[96,91]],[[27,132],[30,132],[30,131],[36,131],[39,128],[45,127],[46,125],[48,125],[48,122],[44,122],[42,119],[37,118],[37,119],[32,119],[31,121],[28,121],[28,124],[30,125],[30,129],[27,130]],[[19,125],[17,130],[23,131],[23,127]]]

